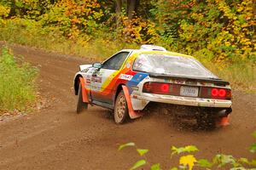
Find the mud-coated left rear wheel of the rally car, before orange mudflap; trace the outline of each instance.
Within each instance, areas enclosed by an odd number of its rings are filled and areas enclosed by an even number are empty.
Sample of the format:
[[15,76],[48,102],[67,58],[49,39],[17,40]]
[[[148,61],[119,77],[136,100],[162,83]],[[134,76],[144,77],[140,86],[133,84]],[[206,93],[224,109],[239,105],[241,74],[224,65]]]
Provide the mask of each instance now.
[[123,91],[119,93],[115,100],[113,115],[114,122],[118,124],[125,122],[128,117],[128,106]]

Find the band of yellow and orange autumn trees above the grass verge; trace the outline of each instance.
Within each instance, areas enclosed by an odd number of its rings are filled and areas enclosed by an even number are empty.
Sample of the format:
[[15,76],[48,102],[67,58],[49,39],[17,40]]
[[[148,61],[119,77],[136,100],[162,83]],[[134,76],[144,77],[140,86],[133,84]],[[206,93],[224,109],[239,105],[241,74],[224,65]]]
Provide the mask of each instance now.
[[[132,18],[127,15],[127,3],[117,13],[116,2],[3,0],[0,29],[11,25],[28,34],[52,35],[84,47],[99,38],[155,43],[215,63],[256,60],[251,0],[142,0]],[[4,35],[0,38],[7,40]]]

